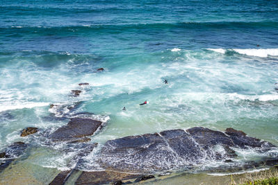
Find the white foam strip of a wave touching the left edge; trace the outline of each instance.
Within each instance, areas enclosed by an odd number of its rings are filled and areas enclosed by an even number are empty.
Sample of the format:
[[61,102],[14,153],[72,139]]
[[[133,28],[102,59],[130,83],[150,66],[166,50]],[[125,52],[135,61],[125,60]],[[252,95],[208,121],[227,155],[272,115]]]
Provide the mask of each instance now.
[[10,109],[31,109],[33,107],[43,107],[43,106],[47,106],[49,105],[49,103],[45,103],[45,102],[14,102],[14,103],[10,103],[10,104],[2,104],[0,105],[0,112],[6,111],[6,110],[10,110]]

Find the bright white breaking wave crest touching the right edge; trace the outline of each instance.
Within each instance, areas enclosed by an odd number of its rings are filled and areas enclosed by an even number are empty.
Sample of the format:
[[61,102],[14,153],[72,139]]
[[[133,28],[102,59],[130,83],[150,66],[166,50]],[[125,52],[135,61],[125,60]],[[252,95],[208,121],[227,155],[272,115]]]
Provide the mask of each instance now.
[[218,53],[227,53],[227,51],[235,51],[242,55],[266,58],[268,55],[278,56],[278,49],[208,49]]

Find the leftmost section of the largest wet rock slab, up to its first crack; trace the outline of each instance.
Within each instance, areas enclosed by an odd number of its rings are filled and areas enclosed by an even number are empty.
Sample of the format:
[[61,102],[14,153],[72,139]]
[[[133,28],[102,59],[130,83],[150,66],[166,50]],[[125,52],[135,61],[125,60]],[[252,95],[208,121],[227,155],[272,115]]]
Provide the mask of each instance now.
[[177,156],[165,140],[154,133],[107,141],[101,149],[99,163],[108,170],[152,173],[165,168],[161,165],[165,159],[174,165]]

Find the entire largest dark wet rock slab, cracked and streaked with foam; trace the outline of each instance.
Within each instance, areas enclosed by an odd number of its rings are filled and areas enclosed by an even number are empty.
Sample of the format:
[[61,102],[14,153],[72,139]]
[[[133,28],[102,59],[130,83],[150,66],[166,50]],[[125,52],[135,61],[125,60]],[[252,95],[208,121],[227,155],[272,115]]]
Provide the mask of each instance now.
[[238,130],[226,132],[193,127],[186,131],[126,136],[105,143],[99,153],[99,164],[108,170],[133,173],[187,170],[208,161],[234,159],[237,157],[234,148],[262,152],[275,147]]

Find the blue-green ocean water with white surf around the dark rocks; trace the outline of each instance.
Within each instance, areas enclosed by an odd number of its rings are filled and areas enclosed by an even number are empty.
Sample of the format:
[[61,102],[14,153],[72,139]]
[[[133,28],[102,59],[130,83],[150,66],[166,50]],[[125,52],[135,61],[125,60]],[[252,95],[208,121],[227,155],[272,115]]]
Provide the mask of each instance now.
[[55,177],[74,166],[76,151],[47,145],[43,134],[19,136],[29,126],[54,132],[67,113],[107,122],[90,137],[100,147],[195,126],[278,144],[278,1],[1,0],[0,11],[0,151],[31,145],[0,174],[4,184],[22,171],[47,184],[38,171]]

